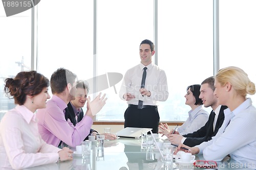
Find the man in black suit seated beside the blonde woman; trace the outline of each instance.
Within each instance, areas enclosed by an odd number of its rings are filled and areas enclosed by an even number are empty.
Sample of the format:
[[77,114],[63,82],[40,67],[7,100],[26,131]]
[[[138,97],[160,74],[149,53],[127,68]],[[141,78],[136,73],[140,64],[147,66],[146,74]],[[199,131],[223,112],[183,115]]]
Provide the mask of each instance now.
[[[199,98],[203,101],[204,107],[210,106],[213,109],[209,115],[206,124],[198,131],[183,136],[168,133],[167,137],[169,138],[170,142],[174,144],[183,143],[185,145],[188,145],[189,147],[194,147],[195,145],[198,145],[204,141],[211,140],[211,137],[217,134],[219,128],[222,126],[224,120],[224,110],[227,107],[218,104],[218,99],[214,95],[214,82],[214,77],[209,77],[201,83],[200,88]],[[159,126],[159,128],[162,131],[167,130],[166,125],[163,124]]]

